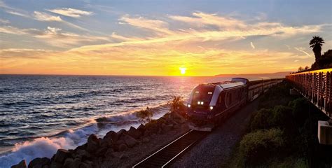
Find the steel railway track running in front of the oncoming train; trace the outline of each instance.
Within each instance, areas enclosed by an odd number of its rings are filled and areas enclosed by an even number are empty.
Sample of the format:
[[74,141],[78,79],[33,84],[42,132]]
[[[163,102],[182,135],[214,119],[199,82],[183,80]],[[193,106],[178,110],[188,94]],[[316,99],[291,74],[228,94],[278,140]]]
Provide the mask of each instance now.
[[190,130],[133,167],[169,167],[171,162],[193,146],[193,144],[200,141],[206,134],[207,132]]

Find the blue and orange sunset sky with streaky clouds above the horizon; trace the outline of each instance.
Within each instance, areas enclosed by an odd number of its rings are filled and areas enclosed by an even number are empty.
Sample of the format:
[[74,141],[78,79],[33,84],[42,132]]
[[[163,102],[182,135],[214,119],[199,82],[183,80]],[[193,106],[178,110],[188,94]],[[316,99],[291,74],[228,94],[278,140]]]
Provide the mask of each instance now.
[[312,36],[332,49],[331,32],[331,0],[0,0],[0,73],[296,71],[314,62]]

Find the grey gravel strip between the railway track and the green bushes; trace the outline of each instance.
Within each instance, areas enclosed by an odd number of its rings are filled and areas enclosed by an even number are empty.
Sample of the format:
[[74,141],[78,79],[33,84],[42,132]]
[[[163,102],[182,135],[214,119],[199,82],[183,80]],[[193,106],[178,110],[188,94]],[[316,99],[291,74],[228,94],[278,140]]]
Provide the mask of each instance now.
[[258,100],[244,106],[186,151],[171,167],[221,167],[230,156],[233,146],[240,141],[257,106]]

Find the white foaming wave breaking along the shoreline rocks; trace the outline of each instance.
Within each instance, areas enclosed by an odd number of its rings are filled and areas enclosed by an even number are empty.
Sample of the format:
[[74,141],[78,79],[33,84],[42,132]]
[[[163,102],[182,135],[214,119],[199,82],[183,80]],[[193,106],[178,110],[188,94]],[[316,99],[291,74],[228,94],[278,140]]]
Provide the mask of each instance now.
[[[168,106],[162,104],[151,110],[154,114],[153,118],[157,119],[167,113]],[[11,167],[23,159],[29,163],[34,158],[51,158],[59,148],[70,149],[84,144],[90,134],[104,137],[110,130],[118,131],[127,130],[130,126],[138,127],[140,123],[136,113],[137,111],[128,111],[118,115],[95,118],[76,130],[64,130],[49,137],[38,137],[32,141],[15,144],[10,153],[0,156],[0,168]]]

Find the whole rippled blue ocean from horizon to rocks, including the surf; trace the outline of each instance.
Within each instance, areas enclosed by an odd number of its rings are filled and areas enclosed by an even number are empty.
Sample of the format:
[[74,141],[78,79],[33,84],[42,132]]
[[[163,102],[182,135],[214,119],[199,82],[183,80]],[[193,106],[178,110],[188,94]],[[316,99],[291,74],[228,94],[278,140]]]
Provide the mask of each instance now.
[[186,100],[195,85],[224,80],[230,78],[0,75],[0,167],[50,158],[90,134],[137,127],[136,111],[148,106],[160,118],[174,96]]

